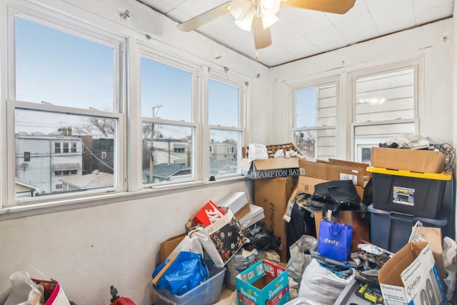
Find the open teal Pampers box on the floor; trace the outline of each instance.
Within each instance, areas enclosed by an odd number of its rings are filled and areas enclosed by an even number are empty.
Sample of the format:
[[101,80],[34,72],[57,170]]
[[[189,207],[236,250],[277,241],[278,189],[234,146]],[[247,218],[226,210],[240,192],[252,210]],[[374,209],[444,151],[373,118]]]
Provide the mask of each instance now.
[[287,269],[258,261],[236,276],[236,301],[245,305],[281,305],[291,299]]

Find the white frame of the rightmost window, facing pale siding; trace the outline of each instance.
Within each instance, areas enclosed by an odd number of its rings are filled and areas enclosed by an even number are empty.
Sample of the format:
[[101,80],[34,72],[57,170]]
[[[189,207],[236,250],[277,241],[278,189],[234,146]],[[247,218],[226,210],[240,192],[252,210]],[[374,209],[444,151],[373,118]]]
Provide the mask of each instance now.
[[[410,119],[392,119],[386,121],[367,121],[357,122],[356,121],[356,79],[375,76],[380,74],[386,74],[394,71],[401,71],[405,69],[413,69],[414,78],[414,101],[413,101],[413,118]],[[420,118],[422,116],[421,105],[423,104],[423,58],[414,58],[406,61],[399,61],[391,64],[384,64],[381,66],[374,66],[368,69],[361,69],[353,71],[348,74],[348,83],[350,84],[351,92],[351,128],[350,128],[350,156],[352,161],[357,160],[358,148],[356,148],[356,128],[361,126],[387,126],[395,124],[414,124],[416,134],[421,134]]]

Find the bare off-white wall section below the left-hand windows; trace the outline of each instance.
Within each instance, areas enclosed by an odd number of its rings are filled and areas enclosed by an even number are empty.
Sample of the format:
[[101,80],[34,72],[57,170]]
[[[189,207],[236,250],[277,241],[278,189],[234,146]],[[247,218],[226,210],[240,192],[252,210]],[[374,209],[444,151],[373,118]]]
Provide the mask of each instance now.
[[184,224],[208,200],[246,191],[253,183],[210,184],[203,189],[86,209],[0,221],[0,291],[14,271],[40,269],[58,279],[78,305],[106,305],[109,287],[137,305],[151,305],[151,274],[159,245],[184,233]]

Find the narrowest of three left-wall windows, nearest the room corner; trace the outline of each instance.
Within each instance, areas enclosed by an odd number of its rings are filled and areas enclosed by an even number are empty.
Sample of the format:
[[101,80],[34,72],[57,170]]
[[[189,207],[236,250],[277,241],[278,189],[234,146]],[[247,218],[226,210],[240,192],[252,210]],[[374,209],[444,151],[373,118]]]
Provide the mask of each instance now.
[[222,81],[216,74],[208,81],[208,120],[210,134],[210,176],[239,174],[243,129],[241,81]]

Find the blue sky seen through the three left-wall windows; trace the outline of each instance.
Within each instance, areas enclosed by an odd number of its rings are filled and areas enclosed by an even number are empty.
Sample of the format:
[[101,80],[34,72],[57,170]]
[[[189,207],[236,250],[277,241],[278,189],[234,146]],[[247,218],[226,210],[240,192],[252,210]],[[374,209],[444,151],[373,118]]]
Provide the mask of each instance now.
[[[114,110],[114,46],[16,17],[16,99],[81,109]],[[192,121],[192,74],[141,59],[141,116]],[[238,127],[239,89],[209,82],[209,124]],[[55,132],[76,116],[16,111],[16,132]],[[34,128],[35,127],[35,128]],[[174,128],[174,127],[172,127]],[[168,128],[170,129],[170,128]],[[213,133],[226,138],[227,135]]]

